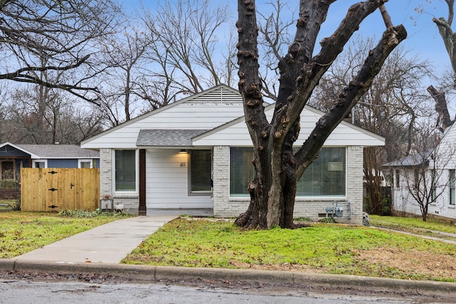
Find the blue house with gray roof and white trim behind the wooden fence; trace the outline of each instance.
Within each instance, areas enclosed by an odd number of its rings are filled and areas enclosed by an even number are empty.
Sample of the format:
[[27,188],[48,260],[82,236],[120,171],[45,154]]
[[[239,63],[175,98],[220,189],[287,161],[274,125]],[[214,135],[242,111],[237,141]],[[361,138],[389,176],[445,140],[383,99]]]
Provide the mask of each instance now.
[[98,168],[99,152],[78,145],[0,145],[1,179],[18,180],[22,167]]

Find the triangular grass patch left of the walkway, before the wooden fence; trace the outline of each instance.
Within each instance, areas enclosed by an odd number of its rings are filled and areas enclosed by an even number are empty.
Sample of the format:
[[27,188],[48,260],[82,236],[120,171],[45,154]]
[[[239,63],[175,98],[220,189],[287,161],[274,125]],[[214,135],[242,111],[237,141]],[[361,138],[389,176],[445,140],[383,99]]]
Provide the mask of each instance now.
[[48,212],[0,212],[0,258],[13,258],[117,219],[109,214],[74,218]]

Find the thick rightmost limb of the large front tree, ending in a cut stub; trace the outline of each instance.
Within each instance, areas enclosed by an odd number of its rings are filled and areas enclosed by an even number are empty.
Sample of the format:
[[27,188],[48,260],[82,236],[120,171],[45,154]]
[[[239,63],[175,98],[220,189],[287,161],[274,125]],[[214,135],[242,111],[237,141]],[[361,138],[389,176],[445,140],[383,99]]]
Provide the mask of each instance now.
[[380,72],[383,63],[393,49],[407,37],[407,31],[403,26],[388,28],[377,46],[369,53],[363,67],[347,88],[339,95],[336,105],[323,115],[316,123],[316,127],[304,142],[296,159],[298,161],[298,176],[311,164],[315,155],[320,150],[331,132],[348,115],[354,105],[370,88],[375,75]]

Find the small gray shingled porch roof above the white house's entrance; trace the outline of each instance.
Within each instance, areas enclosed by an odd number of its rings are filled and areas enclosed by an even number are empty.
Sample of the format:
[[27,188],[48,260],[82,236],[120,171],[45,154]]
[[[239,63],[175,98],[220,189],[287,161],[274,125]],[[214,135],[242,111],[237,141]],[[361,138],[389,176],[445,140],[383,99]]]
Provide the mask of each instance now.
[[192,138],[209,130],[195,129],[142,129],[136,140],[137,146],[188,147]]

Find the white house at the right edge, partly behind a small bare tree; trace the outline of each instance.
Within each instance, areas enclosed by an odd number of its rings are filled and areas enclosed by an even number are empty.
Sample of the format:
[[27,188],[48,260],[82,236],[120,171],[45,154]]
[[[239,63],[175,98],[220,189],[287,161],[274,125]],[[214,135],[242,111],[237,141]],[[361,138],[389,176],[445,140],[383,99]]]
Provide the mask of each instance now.
[[421,216],[420,204],[410,193],[419,188],[421,196],[427,192],[432,201],[427,214],[456,219],[456,124],[447,127],[435,149],[412,151],[383,167],[393,177],[395,211]]

